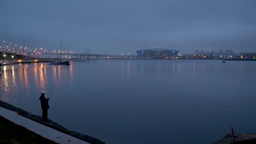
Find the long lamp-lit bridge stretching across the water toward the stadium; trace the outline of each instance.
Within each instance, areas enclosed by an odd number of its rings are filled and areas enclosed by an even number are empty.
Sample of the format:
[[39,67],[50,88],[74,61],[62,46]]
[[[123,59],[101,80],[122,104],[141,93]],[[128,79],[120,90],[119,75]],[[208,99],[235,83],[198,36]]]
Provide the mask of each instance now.
[[0,59],[136,59],[136,56],[84,53],[25,53],[0,51]]

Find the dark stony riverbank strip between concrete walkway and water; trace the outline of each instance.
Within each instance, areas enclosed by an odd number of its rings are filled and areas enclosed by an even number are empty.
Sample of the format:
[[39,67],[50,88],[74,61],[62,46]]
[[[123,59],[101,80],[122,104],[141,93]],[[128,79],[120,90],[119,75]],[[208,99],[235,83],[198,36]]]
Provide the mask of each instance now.
[[[17,112],[17,113],[20,113],[20,114],[25,115],[25,116],[27,116],[27,117],[31,117],[31,118],[33,118],[33,119],[35,119],[35,120],[38,120],[38,121],[41,121],[41,120],[42,120],[42,117],[41,117],[41,116],[33,115],[33,114],[31,114],[31,113],[29,113],[29,112],[27,112],[27,111],[24,111],[23,109],[20,109],[20,108],[18,108],[18,107],[14,107],[13,105],[8,104],[8,103],[6,103],[6,102],[4,102],[4,101],[0,101],[0,107],[3,107],[3,108],[5,108],[5,109],[9,109],[9,110],[14,111],[14,112]],[[68,134],[69,136],[73,136],[73,137],[75,137],[75,138],[77,138],[77,139],[80,139],[80,140],[82,140],[82,141],[88,142],[88,143],[90,143],[90,144],[105,144],[105,142],[103,142],[103,141],[101,141],[101,140],[99,140],[99,139],[96,139],[96,138],[94,138],[94,137],[92,137],[92,136],[88,136],[88,135],[85,135],[85,134],[83,134],[83,133],[78,133],[78,132],[76,132],[76,131],[71,131],[71,130],[69,130],[69,129],[63,127],[62,125],[59,125],[58,123],[53,122],[53,121],[50,120],[50,119],[48,119],[48,121],[45,122],[45,123],[47,123],[47,124],[49,124],[49,125],[53,125],[53,126],[55,126],[55,127],[61,128],[61,129],[64,129],[64,130],[66,130],[66,131],[70,131],[70,133]]]

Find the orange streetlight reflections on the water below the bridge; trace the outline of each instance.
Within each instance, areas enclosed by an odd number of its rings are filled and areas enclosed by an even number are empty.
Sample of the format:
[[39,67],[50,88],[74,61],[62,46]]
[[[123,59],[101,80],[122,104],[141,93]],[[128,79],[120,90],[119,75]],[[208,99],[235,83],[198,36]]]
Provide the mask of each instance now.
[[[59,83],[61,75],[67,77],[67,67],[47,64],[6,65],[1,67],[0,99],[8,101],[8,97],[22,95],[30,96],[32,91],[47,92],[48,80]],[[48,73],[50,72],[50,73]],[[73,71],[70,69],[70,78],[73,80]]]

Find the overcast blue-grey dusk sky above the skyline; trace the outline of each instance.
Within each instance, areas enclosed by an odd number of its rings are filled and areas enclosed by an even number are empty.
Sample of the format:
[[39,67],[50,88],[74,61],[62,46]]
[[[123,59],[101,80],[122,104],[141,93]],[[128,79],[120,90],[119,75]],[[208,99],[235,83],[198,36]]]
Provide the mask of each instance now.
[[84,53],[256,52],[256,0],[0,0],[0,45]]

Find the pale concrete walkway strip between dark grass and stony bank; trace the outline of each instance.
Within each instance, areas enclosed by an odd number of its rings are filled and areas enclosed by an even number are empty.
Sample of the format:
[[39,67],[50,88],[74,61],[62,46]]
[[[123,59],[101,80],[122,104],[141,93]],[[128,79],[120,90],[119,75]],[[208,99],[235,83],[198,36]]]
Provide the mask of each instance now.
[[27,128],[29,131],[33,131],[46,139],[55,141],[60,144],[89,144],[85,141],[74,138],[65,133],[56,131],[53,128],[49,128],[45,125],[41,125],[40,123],[34,122],[33,120],[29,120],[26,117],[22,117],[21,115],[18,115],[16,112],[5,109],[3,107],[0,107],[0,115],[2,117],[5,117],[7,120],[16,123],[17,125],[21,125]]

